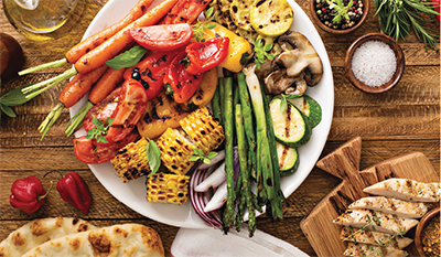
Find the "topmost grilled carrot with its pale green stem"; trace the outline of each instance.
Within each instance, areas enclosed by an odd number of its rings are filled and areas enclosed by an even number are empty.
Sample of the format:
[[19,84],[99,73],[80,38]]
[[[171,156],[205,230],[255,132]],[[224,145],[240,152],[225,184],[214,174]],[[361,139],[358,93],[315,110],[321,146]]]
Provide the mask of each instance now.
[[79,42],[66,53],[64,58],[20,71],[19,75],[22,76],[49,67],[60,67],[66,63],[75,64],[76,61],[78,61],[78,58],[80,58],[83,55],[94,50],[107,39],[115,35],[118,31],[122,30],[123,28],[142,17],[142,14],[146,13],[147,9],[151,6],[153,1],[154,0],[140,0],[137,6],[135,6],[122,20]]

